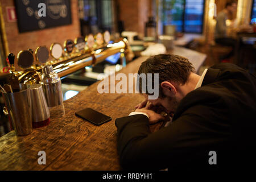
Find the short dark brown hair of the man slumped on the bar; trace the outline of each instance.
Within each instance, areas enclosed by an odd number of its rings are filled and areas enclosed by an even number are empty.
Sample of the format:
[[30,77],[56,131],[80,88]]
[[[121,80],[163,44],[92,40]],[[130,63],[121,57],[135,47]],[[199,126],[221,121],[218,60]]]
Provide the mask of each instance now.
[[[190,73],[195,73],[195,68],[188,61],[186,57],[173,55],[173,54],[161,54],[149,57],[139,67],[138,74],[141,73],[159,73],[159,97],[164,98],[163,90],[160,84],[163,81],[175,81],[181,85],[184,85],[188,80]],[[139,84],[139,92],[142,92],[141,81]],[[152,78],[152,86],[154,86],[154,78]],[[148,92],[146,92],[148,94]]]

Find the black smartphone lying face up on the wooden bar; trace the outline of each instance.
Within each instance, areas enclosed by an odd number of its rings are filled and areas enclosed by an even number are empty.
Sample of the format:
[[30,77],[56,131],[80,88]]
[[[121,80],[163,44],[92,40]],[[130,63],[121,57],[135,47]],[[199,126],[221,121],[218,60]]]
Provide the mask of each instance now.
[[86,108],[86,109],[77,111],[76,115],[80,118],[83,118],[93,123],[94,125],[102,125],[103,123],[108,122],[112,119],[108,115],[102,114],[91,108]]

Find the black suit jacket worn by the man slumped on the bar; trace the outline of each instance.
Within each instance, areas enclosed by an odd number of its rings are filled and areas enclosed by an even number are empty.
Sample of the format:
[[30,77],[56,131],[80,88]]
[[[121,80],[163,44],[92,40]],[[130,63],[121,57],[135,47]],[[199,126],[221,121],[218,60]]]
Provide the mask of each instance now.
[[[256,78],[233,64],[209,68],[173,122],[150,133],[145,115],[115,120],[123,169],[255,168]],[[210,165],[210,151],[217,164]]]

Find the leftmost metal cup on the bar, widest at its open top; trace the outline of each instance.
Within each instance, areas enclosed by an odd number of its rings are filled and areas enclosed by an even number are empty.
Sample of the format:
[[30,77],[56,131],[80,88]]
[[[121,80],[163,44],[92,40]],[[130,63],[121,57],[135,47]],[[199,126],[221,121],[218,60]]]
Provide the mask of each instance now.
[[30,89],[14,93],[3,93],[11,123],[18,136],[32,132],[32,107]]

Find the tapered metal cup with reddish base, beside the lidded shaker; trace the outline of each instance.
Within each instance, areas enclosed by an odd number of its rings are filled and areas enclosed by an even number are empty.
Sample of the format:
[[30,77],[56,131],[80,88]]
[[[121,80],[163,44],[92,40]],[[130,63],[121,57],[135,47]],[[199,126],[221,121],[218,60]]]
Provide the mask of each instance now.
[[44,96],[42,85],[30,85],[32,104],[32,125],[34,128],[49,124],[49,109]]

